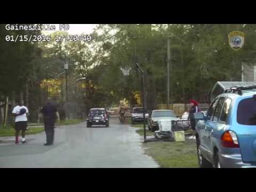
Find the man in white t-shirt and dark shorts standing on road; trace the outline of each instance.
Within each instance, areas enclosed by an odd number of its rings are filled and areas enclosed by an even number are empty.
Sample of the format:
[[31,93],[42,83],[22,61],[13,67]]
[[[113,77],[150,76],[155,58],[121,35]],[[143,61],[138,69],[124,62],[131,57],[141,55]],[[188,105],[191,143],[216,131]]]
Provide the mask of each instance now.
[[19,143],[19,134],[21,130],[22,135],[22,143],[26,143],[25,141],[25,132],[28,125],[28,108],[23,106],[23,100],[20,101],[19,105],[13,108],[12,114],[15,116],[15,144]]

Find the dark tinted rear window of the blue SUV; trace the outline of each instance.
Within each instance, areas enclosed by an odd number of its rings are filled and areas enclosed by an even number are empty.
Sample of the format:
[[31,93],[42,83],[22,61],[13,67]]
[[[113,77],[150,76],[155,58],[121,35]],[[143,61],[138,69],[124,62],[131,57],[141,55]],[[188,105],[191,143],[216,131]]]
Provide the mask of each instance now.
[[244,99],[239,102],[237,122],[241,125],[256,125],[256,100]]

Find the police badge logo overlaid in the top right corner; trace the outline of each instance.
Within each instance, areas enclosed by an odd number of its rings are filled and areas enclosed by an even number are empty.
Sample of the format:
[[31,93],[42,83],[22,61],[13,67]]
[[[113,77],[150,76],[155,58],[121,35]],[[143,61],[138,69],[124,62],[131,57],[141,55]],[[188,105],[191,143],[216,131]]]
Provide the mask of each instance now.
[[230,32],[228,34],[228,42],[233,50],[240,50],[244,45],[244,33],[241,31]]

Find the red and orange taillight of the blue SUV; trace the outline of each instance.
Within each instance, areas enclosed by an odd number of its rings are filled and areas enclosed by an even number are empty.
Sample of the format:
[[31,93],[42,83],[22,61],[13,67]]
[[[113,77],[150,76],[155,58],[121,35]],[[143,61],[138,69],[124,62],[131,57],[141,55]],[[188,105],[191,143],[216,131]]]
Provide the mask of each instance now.
[[226,131],[221,136],[221,145],[228,148],[239,148],[238,139],[236,133],[233,131]]

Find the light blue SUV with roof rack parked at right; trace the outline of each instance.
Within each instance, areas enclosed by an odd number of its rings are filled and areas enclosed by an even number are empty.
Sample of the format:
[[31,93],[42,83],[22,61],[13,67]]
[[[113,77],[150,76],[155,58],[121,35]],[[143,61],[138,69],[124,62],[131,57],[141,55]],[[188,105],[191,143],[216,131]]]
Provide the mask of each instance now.
[[230,87],[195,119],[200,167],[256,167],[256,86]]

